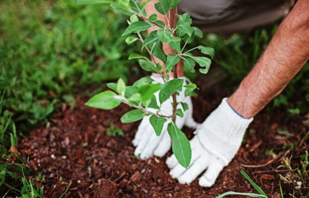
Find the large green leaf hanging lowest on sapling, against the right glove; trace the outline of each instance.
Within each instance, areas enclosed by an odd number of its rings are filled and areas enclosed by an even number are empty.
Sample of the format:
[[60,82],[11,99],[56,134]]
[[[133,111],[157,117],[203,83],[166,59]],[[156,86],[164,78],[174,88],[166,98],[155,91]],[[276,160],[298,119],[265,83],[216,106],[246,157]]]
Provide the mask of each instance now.
[[189,140],[174,123],[168,123],[167,131],[172,137],[172,150],[177,161],[181,166],[187,168],[192,157]]

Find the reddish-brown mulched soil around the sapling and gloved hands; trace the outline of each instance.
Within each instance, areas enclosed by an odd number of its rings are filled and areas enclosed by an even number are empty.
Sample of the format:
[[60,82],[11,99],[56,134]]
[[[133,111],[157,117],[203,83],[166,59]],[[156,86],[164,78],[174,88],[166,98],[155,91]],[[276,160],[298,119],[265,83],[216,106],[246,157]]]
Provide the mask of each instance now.
[[[219,85],[204,85],[204,79],[197,80],[200,97],[193,97],[194,118],[202,122],[220,103],[225,91],[218,91]],[[308,127],[300,116],[290,116],[279,109],[262,112],[249,126],[242,147],[231,163],[224,168],[211,188],[202,188],[198,180],[190,185],[181,185],[171,179],[165,164],[167,156],[152,157],[142,161],[133,156],[131,140],[139,122],[122,124],[120,117],[129,107],[120,105],[110,111],[93,109],[83,105],[87,97],[77,96],[77,105],[71,110],[66,107],[56,113],[49,127],[31,131],[27,139],[19,144],[24,159],[29,158],[30,166],[43,172],[45,179],[44,196],[59,197],[72,182],[64,197],[209,197],[213,198],[227,191],[254,192],[254,188],[240,174],[243,169],[269,197],[279,197],[280,174],[290,183],[281,180],[286,197],[296,191],[300,178],[293,171],[286,171],[282,159],[273,160],[266,152],[273,149],[275,154],[286,153],[292,168],[297,168],[299,156],[308,150],[308,141],[299,147]],[[110,122],[121,128],[124,136],[108,136],[106,131]],[[281,130],[284,129],[284,130]],[[183,131],[188,138],[193,130],[186,127]],[[281,131],[281,133],[278,133]],[[282,132],[283,131],[283,132]],[[260,168],[243,167],[246,165],[266,164]],[[290,175],[289,175],[290,174]],[[304,187],[304,186],[302,186]],[[306,195],[308,188],[301,188]],[[234,196],[238,197],[238,196]]]

